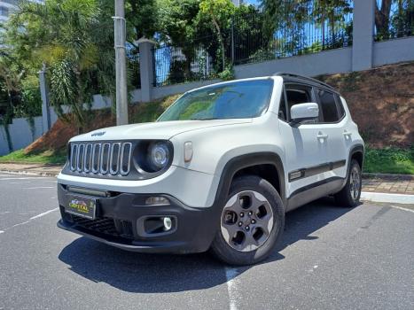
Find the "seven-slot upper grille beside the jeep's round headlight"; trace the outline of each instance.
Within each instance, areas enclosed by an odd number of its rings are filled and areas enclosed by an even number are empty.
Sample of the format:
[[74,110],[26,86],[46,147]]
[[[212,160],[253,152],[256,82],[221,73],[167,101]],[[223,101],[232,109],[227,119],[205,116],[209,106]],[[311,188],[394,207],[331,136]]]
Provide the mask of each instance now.
[[71,143],[70,170],[86,174],[129,174],[130,142]]

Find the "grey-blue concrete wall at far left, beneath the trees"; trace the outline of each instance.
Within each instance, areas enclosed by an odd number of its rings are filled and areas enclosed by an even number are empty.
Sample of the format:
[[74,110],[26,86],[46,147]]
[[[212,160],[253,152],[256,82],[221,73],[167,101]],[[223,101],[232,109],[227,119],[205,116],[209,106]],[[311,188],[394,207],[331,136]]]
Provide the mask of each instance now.
[[[42,116],[35,117],[35,130],[32,133],[30,125],[26,119],[13,119],[9,125],[9,133],[12,138],[13,151],[25,148],[39,136],[43,135]],[[9,147],[3,126],[0,127],[0,156],[8,154]]]

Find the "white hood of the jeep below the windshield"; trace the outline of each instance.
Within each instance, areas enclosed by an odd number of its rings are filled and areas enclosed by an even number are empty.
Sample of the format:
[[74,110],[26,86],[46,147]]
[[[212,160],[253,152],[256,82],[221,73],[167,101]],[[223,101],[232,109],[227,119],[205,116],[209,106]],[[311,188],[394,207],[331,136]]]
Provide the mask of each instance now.
[[216,126],[230,126],[250,122],[252,122],[252,119],[173,120],[141,123],[94,130],[87,134],[74,136],[70,141],[108,141],[135,139],[169,140],[173,136],[192,130]]

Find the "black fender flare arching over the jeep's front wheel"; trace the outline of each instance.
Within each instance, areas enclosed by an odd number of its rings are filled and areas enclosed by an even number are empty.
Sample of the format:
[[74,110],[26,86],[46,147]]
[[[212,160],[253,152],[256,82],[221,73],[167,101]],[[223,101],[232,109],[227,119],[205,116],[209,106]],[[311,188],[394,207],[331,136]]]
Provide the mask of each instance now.
[[254,152],[230,159],[223,167],[222,174],[220,175],[220,182],[215,193],[215,205],[220,205],[220,202],[223,202],[227,197],[231,180],[239,170],[256,165],[273,165],[276,167],[280,186],[279,195],[285,206],[285,170],[282,159],[274,152]]

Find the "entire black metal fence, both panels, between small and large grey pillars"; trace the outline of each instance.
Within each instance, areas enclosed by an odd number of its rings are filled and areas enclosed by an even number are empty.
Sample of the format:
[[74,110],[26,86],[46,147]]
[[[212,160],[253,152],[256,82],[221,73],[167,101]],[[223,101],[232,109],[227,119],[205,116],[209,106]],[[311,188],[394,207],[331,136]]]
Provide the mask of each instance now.
[[[254,7],[233,16],[230,27],[222,29],[227,63],[260,62],[352,44],[352,0],[343,0],[334,8],[318,0],[286,0],[277,5],[274,24]],[[223,71],[220,46],[217,35],[184,47],[160,44],[152,50],[154,86],[216,77]]]

